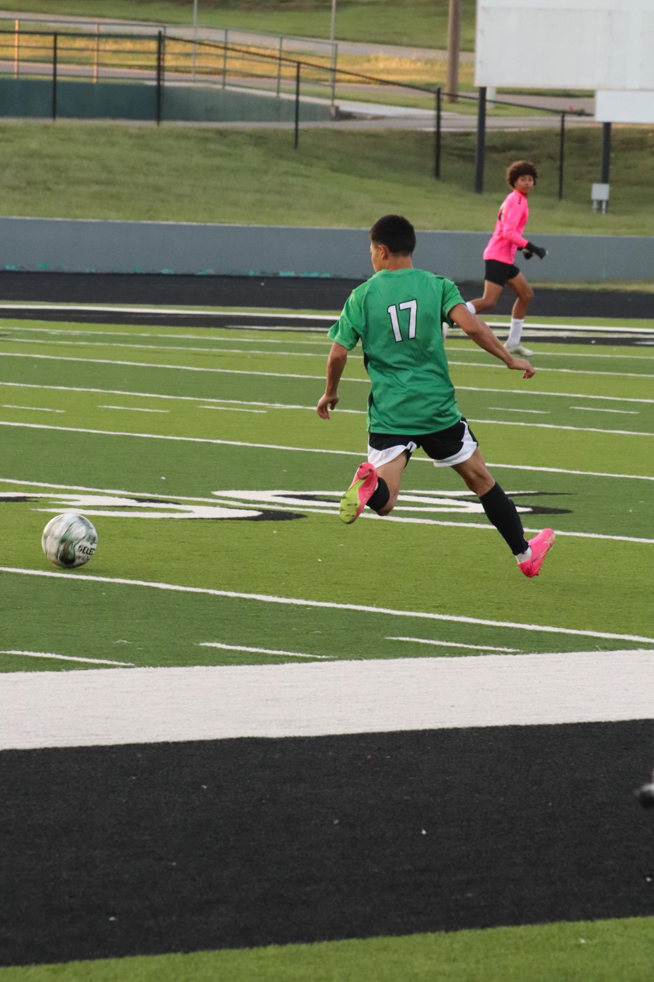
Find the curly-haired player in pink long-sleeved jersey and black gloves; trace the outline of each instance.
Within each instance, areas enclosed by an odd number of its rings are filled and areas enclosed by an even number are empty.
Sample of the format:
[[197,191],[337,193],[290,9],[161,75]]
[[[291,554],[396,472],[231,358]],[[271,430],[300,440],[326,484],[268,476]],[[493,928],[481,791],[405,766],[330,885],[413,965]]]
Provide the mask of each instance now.
[[523,236],[529,217],[527,199],[537,179],[538,172],[528,160],[517,160],[507,168],[506,180],[512,191],[502,202],[492,237],[483,250],[486,264],[483,297],[469,300],[466,304],[471,313],[475,314],[492,310],[504,285],[508,284],[517,300],[511,311],[511,329],[506,340],[506,349],[512,355],[521,357],[533,355],[533,352],[520,343],[533,291],[513,260],[518,249],[522,249],[526,259],[530,259],[532,255],[542,259],[546,255],[544,248],[535,246]]

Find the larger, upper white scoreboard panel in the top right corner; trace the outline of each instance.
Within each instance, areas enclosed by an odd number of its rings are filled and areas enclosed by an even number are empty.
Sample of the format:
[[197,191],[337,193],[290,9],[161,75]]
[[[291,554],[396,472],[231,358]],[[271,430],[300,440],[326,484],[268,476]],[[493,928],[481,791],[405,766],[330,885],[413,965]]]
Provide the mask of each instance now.
[[654,0],[478,0],[476,85],[654,89]]

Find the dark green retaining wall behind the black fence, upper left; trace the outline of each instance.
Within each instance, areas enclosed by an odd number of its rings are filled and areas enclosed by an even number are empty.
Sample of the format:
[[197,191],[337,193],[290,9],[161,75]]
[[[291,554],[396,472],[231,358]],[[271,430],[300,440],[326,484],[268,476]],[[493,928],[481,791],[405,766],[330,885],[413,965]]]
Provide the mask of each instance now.
[[[53,85],[49,79],[0,79],[0,117],[51,118]],[[57,116],[63,119],[154,120],[157,89],[147,82],[57,82]],[[228,88],[167,84],[162,90],[162,120],[194,123],[292,123],[295,100],[235,92]],[[300,100],[300,119],[329,119],[325,103]]]

